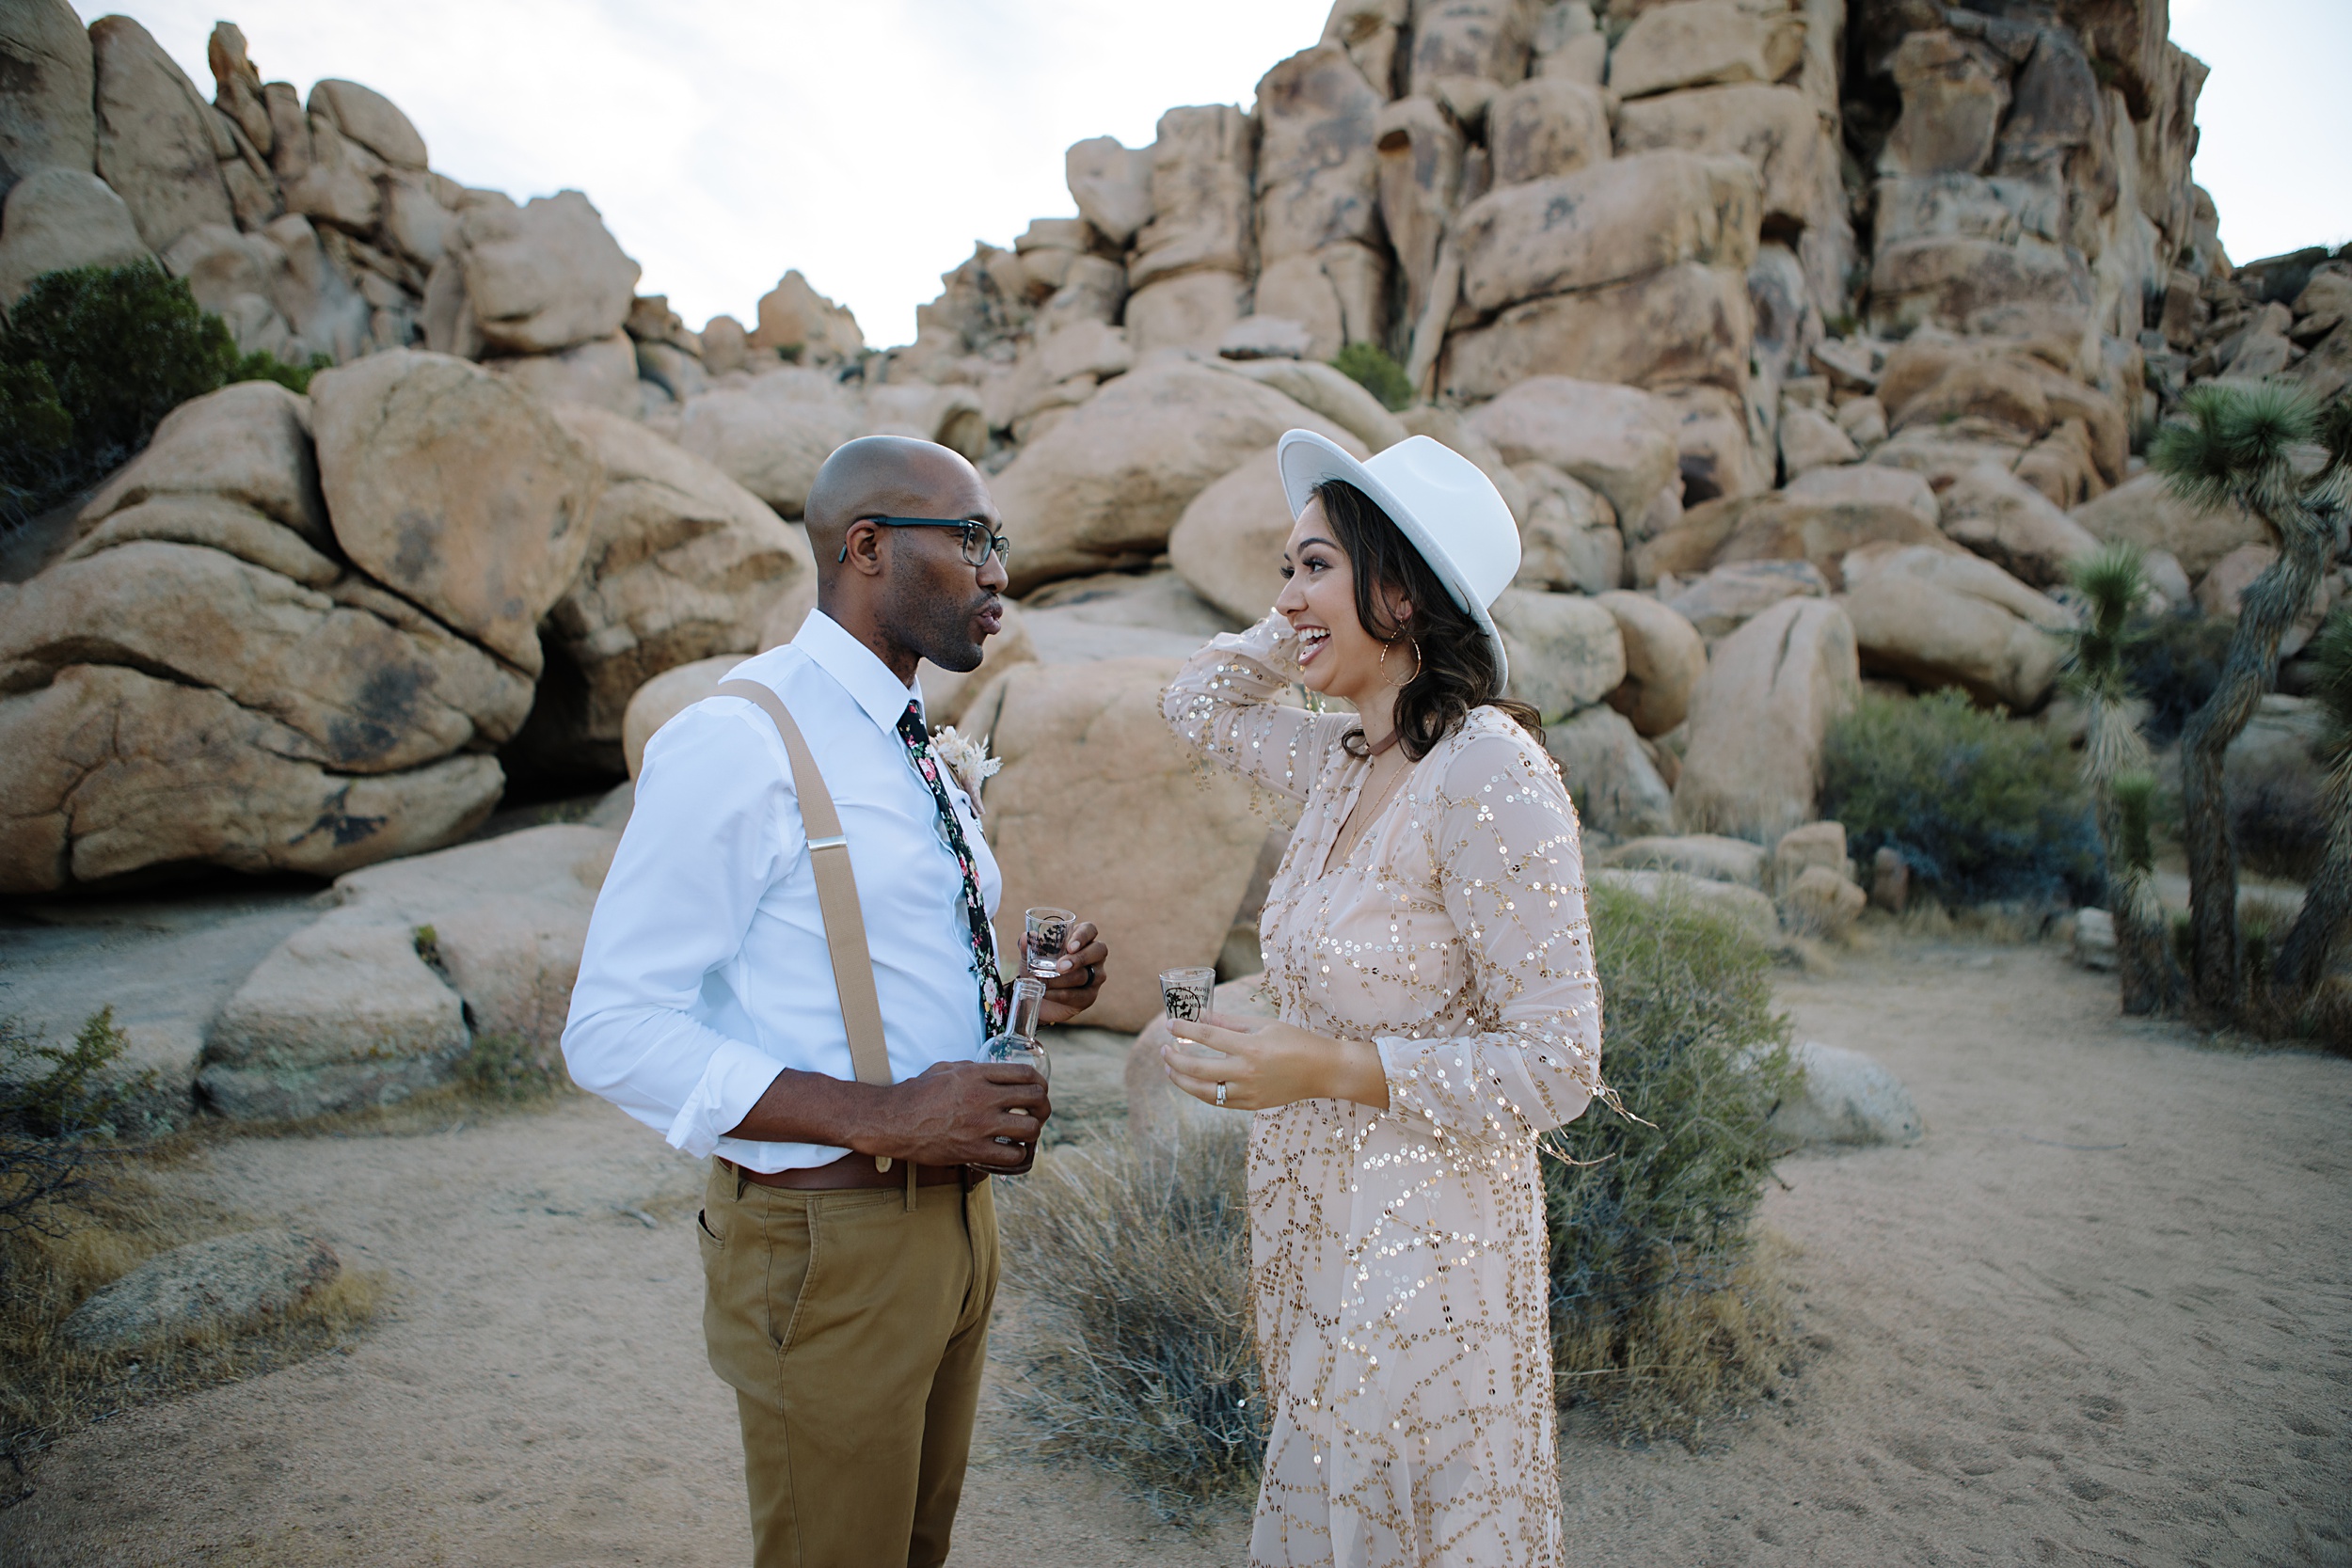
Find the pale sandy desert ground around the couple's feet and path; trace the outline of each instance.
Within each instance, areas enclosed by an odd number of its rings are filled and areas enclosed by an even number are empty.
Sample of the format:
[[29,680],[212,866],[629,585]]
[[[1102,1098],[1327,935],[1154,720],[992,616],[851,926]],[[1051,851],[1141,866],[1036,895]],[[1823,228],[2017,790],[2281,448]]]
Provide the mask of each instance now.
[[[1783,999],[1886,1060],[1929,1133],[1783,1164],[1802,1375],[1700,1453],[1571,1420],[1573,1561],[2352,1563],[2352,1063],[2122,1023],[2112,980],[2039,947],[1910,943]],[[1115,1093],[1112,1053],[1063,1060],[1073,1103]],[[0,1561],[746,1559],[696,1173],[652,1133],[567,1100],[228,1143],[193,1180],[383,1269],[390,1314],[73,1434]],[[1244,1537],[1157,1523],[985,1410],[955,1561],[1240,1563]]]

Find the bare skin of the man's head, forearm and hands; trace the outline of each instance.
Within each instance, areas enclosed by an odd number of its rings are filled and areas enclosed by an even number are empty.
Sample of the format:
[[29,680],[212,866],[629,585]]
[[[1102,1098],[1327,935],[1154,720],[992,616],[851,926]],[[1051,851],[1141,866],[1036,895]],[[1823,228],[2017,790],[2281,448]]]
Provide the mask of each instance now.
[[[903,682],[913,684],[924,658],[941,670],[978,668],[981,642],[1002,614],[1004,562],[969,564],[953,529],[889,529],[873,517],[981,517],[1000,531],[978,470],[931,442],[868,435],[826,458],[807,505],[821,611]],[[1044,1023],[1084,1013],[1103,985],[1108,950],[1091,924],[1077,926],[1063,952],[1063,971],[1047,980]],[[727,1135],[1018,1175],[1037,1159],[1037,1126],[1051,1114],[1037,1070],[1011,1063],[936,1063],[903,1084],[786,1067]]]

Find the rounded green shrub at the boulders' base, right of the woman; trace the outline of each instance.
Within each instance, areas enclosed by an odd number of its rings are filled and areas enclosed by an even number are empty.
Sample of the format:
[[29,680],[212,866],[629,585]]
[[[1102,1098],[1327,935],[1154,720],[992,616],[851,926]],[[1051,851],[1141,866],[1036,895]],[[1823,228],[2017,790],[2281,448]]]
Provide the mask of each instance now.
[[2096,903],[2098,827],[2074,757],[1959,691],[1865,691],[1830,726],[1820,811],[1860,860],[1893,846],[1947,903]]

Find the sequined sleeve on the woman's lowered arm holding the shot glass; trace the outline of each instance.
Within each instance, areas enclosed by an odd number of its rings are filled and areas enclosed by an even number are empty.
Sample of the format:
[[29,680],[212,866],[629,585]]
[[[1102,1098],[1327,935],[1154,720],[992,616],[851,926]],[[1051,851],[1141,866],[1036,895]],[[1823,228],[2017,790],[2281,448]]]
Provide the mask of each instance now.
[[1472,1034],[1381,1037],[1390,1110],[1465,1143],[1519,1140],[1583,1114],[1602,1086],[1602,992],[1576,806],[1517,738],[1472,741],[1416,799],[1468,950]]

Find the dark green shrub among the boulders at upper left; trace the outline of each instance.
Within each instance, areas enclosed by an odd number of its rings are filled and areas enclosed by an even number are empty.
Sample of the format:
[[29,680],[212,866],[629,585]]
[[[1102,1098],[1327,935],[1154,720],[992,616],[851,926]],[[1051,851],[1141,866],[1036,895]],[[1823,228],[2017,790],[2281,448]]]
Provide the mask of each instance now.
[[306,390],[329,364],[240,355],[186,280],[155,263],[42,273],[0,329],[0,522],[54,505],[230,381]]

